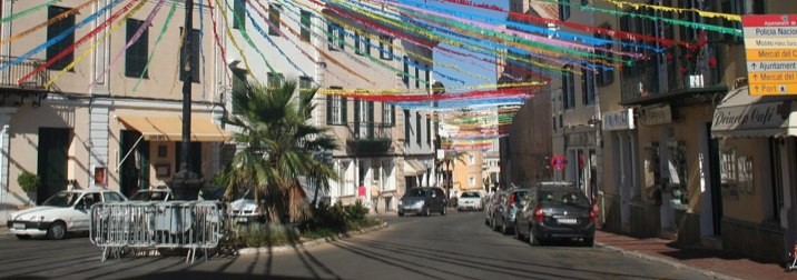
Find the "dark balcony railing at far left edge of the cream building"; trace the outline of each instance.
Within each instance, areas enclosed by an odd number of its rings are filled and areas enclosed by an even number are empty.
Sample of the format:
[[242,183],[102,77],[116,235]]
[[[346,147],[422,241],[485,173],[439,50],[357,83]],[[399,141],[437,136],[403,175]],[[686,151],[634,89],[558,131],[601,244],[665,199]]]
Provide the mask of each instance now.
[[[10,63],[17,59],[16,57],[0,57],[0,66]],[[43,70],[28,79],[27,81],[19,83],[19,79],[22,79],[26,74],[32,72],[36,68],[43,64],[45,61],[27,59],[20,63],[10,66],[4,70],[0,71],[0,88],[16,88],[27,90],[45,90],[45,83],[49,80],[49,70]]]

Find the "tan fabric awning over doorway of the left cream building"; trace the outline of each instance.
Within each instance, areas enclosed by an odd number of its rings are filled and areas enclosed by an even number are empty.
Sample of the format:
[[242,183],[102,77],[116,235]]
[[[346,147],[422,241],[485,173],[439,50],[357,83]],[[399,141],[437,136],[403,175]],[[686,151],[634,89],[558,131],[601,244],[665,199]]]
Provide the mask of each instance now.
[[[147,141],[183,141],[183,118],[180,117],[117,117],[126,128],[141,132]],[[194,142],[224,142],[230,137],[208,119],[191,118]]]

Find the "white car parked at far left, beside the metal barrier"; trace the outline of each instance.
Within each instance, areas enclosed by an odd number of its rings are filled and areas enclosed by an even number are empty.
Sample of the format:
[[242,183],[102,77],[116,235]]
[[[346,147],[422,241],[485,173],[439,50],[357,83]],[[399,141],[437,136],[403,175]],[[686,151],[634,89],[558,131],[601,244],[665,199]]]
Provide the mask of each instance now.
[[65,190],[45,200],[41,206],[11,213],[8,228],[19,239],[46,236],[58,240],[67,232],[88,231],[91,206],[95,203],[126,200],[120,192],[101,188]]

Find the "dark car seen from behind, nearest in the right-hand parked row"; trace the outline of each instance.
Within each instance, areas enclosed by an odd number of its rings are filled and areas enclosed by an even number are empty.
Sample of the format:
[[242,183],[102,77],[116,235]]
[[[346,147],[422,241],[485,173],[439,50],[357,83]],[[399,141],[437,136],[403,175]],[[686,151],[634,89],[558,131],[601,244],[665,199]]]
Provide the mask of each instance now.
[[523,200],[515,238],[531,244],[580,240],[594,246],[596,211],[584,192],[569,182],[537,183]]

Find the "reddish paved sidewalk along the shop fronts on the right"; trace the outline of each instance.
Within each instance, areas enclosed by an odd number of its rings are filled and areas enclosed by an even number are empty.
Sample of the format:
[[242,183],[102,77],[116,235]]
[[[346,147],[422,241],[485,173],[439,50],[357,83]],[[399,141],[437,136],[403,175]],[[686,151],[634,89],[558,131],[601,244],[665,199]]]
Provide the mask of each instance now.
[[666,239],[639,239],[602,230],[596,234],[598,247],[681,269],[699,270],[716,279],[797,279],[797,271],[788,272],[776,262],[759,262],[719,250],[679,249],[672,247],[672,240]]

